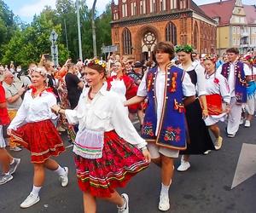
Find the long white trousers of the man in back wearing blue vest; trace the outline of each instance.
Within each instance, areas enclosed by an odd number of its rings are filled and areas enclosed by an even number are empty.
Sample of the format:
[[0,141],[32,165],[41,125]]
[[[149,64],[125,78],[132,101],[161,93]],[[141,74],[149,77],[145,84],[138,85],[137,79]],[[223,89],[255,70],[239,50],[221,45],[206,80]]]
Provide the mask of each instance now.
[[241,104],[236,104],[236,98],[231,97],[230,101],[230,113],[228,119],[227,132],[231,135],[236,135],[239,129],[241,120]]

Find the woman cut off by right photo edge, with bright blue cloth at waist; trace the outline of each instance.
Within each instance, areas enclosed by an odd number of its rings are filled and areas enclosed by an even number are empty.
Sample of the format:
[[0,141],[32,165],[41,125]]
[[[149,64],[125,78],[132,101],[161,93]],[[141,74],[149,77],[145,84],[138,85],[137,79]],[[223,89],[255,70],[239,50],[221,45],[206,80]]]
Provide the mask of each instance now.
[[246,76],[247,81],[247,118],[244,126],[250,127],[256,106],[256,56],[245,55],[243,62],[251,69],[250,75]]

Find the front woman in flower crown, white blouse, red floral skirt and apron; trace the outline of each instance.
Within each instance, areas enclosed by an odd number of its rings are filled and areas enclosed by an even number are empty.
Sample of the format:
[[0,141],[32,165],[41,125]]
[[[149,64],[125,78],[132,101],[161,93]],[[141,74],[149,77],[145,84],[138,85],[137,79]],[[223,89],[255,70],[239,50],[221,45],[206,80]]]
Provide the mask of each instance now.
[[132,176],[148,167],[147,143],[125,116],[119,95],[107,90],[106,62],[87,60],[85,79],[89,88],[80,96],[78,107],[53,111],[65,114],[70,124],[79,124],[74,142],[79,188],[84,195],[84,212],[96,212],[96,198],[118,206],[128,213],[128,195],[119,195],[116,187],[125,187]]

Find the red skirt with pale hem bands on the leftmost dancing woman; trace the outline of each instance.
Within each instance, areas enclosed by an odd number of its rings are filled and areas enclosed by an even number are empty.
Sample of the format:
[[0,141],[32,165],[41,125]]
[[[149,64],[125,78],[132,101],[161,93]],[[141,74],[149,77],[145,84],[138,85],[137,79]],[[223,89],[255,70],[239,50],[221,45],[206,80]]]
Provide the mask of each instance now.
[[13,130],[11,137],[31,152],[32,163],[44,163],[50,156],[65,151],[61,136],[50,120],[24,124]]

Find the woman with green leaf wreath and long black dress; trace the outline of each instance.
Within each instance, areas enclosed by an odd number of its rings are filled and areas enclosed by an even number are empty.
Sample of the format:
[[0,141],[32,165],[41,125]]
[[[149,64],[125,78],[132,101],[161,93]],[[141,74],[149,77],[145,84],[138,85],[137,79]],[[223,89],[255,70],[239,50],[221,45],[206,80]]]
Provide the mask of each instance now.
[[188,104],[185,103],[186,120],[189,131],[187,138],[188,147],[185,151],[181,152],[183,156],[181,158],[181,164],[177,168],[178,171],[185,171],[190,167],[190,154],[203,154],[215,148],[203,119],[208,116],[205,69],[200,64],[193,62],[191,55],[193,48],[191,46],[177,46],[175,50],[181,62],[178,67],[189,74],[195,86],[196,95],[198,96],[194,101]]

